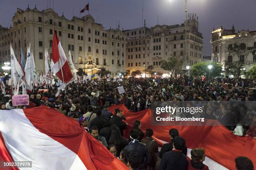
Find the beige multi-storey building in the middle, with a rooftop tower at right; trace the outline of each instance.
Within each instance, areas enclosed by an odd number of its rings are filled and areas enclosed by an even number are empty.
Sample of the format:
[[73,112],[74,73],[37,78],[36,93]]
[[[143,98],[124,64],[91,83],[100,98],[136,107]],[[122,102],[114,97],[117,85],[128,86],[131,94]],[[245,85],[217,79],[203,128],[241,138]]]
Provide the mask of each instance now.
[[[146,24],[145,24],[146,25]],[[198,32],[198,18],[187,20],[182,25],[156,25],[125,30],[125,70],[136,72],[142,77],[167,76],[170,72],[161,68],[161,60],[169,57],[184,57],[183,70],[202,61],[203,37]],[[186,30],[186,31],[185,31]],[[153,69],[148,71],[148,66]],[[146,70],[146,72],[145,72]]]

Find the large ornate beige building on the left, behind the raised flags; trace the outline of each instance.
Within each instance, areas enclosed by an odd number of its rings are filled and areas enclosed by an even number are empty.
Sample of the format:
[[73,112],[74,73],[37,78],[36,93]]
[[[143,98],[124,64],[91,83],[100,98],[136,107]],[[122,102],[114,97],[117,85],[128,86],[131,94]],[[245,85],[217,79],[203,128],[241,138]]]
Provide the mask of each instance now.
[[125,34],[120,29],[106,30],[91,15],[68,20],[51,8],[39,11],[28,7],[17,8],[12,21],[13,27],[0,27],[0,63],[10,61],[10,43],[17,58],[20,48],[26,56],[31,43],[36,70],[44,72],[44,49],[51,55],[55,28],[66,57],[71,50],[76,69],[92,74],[104,67],[112,76],[125,70]]

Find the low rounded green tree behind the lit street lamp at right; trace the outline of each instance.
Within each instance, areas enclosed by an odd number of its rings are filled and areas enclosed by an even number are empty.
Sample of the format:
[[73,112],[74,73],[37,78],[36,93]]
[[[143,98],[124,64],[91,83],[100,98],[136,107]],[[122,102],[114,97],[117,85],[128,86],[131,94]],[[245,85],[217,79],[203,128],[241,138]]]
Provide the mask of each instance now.
[[209,68],[208,65],[212,65],[212,69],[210,69],[211,76],[216,77],[220,76],[221,65],[216,62],[198,62],[195,65],[192,65],[190,74],[193,76],[209,76]]

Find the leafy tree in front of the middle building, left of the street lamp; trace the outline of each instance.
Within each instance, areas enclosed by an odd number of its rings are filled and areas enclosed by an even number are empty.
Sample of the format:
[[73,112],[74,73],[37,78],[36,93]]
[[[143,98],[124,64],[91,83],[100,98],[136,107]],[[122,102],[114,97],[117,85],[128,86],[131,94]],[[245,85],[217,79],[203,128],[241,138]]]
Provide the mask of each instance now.
[[177,77],[177,74],[182,73],[183,62],[184,62],[184,59],[182,56],[169,57],[167,61],[166,60],[161,61],[161,68],[172,72],[171,77],[174,78],[174,77]]

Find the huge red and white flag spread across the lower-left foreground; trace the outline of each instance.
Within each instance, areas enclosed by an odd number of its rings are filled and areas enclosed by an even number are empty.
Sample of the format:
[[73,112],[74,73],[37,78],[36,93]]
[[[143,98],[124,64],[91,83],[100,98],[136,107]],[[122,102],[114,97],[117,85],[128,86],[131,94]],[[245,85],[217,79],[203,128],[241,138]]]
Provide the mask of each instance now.
[[128,170],[77,120],[44,106],[0,112],[0,161],[31,161],[33,170]]

